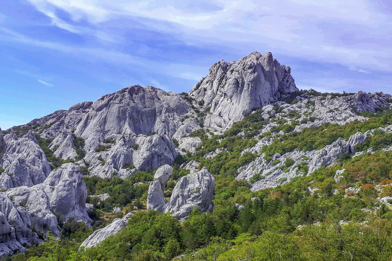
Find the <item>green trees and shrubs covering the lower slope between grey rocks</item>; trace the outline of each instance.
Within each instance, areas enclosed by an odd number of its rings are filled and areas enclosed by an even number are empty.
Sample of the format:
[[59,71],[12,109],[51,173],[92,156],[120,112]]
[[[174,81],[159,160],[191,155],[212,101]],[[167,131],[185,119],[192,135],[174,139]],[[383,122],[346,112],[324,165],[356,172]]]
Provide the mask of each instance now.
[[[274,153],[320,149],[339,137],[347,140],[357,131],[364,133],[392,124],[389,111],[368,113],[368,116],[370,118],[363,122],[343,126],[323,124],[300,132],[290,132],[300,124],[295,120],[295,113],[290,116],[290,124],[282,119],[271,119],[277,126],[258,139],[275,138],[272,144],[259,153],[242,155],[243,149],[257,143],[253,137],[268,122],[261,117],[260,110],[248,113],[243,121],[236,122],[222,135],[211,135],[203,129],[191,133],[190,137],[200,137],[203,143],[193,155],[187,153],[176,158],[165,196],[170,197],[178,178],[189,174],[179,166],[196,160],[201,163],[199,168],[207,167],[215,177],[215,208],[212,212],[195,208],[185,221],[145,209],[149,184],[134,184],[153,180],[155,170],[138,171],[128,180],[90,177],[85,173],[89,195],[111,195],[102,202],[88,199],[88,203],[94,204],[94,211],[89,212],[93,227],[73,219],[59,220],[60,238],[48,234],[45,243],[8,258],[13,261],[390,261],[392,211],[389,203],[392,201],[381,203],[377,198],[392,196],[392,151],[380,150],[392,144],[392,134],[376,130],[363,144],[356,146],[356,151],[364,152],[362,155],[344,154],[333,166],[320,167],[309,176],[309,168],[303,165],[302,176],[274,188],[250,191],[251,182],[262,178],[261,175],[255,175],[250,181],[236,179],[237,169],[262,153],[271,160]],[[285,134],[271,136],[279,130]],[[240,132],[245,134],[238,136]],[[225,151],[212,159],[203,157],[217,148]],[[345,171],[336,183],[334,176],[340,169]],[[239,210],[236,203],[243,208]],[[113,218],[124,216],[135,205],[139,209],[116,236],[96,247],[80,248],[94,230],[104,227]],[[122,207],[122,212],[110,215],[117,206]]]

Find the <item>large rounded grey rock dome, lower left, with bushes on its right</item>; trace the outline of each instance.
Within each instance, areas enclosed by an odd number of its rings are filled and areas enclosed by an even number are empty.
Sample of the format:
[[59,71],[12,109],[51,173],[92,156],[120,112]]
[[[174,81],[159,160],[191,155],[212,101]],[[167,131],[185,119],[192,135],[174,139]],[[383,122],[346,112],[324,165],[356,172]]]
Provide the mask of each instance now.
[[86,211],[87,188],[80,167],[65,163],[54,169],[42,184],[33,186],[41,189],[49,198],[49,207],[62,214],[62,218],[91,221]]

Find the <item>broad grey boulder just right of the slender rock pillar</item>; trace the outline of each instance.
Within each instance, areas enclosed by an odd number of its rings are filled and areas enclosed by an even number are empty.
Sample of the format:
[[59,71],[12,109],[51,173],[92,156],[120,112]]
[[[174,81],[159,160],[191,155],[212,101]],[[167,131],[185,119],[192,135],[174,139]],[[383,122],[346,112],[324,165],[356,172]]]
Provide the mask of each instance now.
[[215,179],[205,167],[183,176],[174,187],[165,212],[170,212],[175,218],[183,218],[196,206],[200,211],[212,211],[214,187]]

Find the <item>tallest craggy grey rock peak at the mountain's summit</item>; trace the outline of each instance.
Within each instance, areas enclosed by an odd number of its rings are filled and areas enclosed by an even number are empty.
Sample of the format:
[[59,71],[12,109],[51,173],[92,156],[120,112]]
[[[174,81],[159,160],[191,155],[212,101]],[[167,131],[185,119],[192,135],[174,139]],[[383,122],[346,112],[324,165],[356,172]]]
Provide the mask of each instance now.
[[252,52],[238,61],[219,61],[189,92],[205,110],[211,107],[204,125],[229,128],[243,114],[260,108],[283,93],[298,91],[290,67],[280,65],[272,54]]

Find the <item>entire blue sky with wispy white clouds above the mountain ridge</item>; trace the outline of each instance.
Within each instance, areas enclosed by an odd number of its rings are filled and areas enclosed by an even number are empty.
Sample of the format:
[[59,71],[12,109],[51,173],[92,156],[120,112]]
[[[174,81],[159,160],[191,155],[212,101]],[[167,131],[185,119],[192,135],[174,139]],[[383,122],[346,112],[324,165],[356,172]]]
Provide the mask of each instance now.
[[390,1],[0,1],[0,127],[272,52],[298,88],[392,93]]

